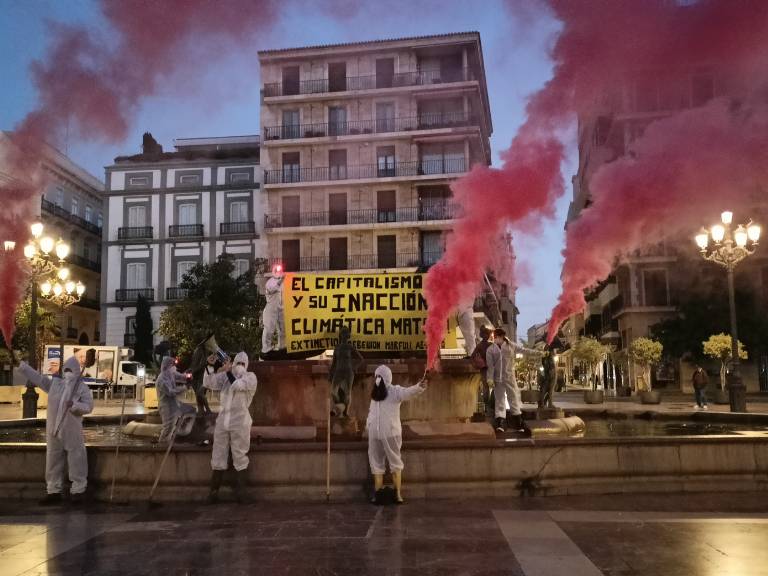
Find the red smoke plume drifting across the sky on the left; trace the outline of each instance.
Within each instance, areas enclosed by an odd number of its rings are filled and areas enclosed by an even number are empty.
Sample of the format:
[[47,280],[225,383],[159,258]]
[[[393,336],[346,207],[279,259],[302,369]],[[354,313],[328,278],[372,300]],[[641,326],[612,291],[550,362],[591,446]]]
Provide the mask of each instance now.
[[[338,2],[348,6],[344,0]],[[6,342],[11,341],[14,310],[25,284],[18,254],[28,240],[28,226],[38,213],[44,187],[34,177],[42,158],[41,143],[55,143],[65,128],[83,139],[121,141],[142,99],[156,93],[163,79],[181,69],[214,65],[217,55],[234,48],[253,52],[256,74],[257,46],[249,43],[273,26],[278,9],[287,4],[104,0],[101,11],[109,35],[82,26],[51,25],[49,52],[32,66],[39,107],[14,132],[24,153],[4,166],[20,181],[33,182],[33,189],[0,186],[3,239],[17,245],[17,256],[6,257],[0,265],[0,326]],[[328,3],[329,9],[333,6],[335,2]]]

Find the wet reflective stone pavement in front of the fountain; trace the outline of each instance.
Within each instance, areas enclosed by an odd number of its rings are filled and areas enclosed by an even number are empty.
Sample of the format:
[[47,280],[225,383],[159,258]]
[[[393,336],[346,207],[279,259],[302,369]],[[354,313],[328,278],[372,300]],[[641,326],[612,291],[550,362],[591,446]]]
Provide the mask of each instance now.
[[768,575],[764,494],[43,508],[0,502],[0,574]]

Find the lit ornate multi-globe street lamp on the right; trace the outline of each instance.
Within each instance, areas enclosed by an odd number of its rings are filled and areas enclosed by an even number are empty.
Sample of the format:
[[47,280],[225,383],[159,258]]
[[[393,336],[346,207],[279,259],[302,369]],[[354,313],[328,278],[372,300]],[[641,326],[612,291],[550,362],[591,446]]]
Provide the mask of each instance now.
[[[731,312],[732,370],[728,376],[728,397],[731,412],[747,411],[747,395],[739,370],[739,335],[736,327],[736,297],[733,288],[733,271],[747,256],[754,254],[760,240],[761,228],[751,220],[733,229],[733,212],[720,215],[721,224],[709,230],[702,228],[696,235],[696,244],[705,260],[716,262],[728,271],[728,303]],[[710,242],[711,240],[711,242]]]

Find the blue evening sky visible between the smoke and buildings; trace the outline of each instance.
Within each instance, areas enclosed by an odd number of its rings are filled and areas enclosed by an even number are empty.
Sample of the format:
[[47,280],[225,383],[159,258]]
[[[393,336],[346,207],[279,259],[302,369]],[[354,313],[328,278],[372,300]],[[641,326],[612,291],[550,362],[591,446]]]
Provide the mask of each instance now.
[[[96,2],[91,0],[0,0],[0,14],[0,78],[4,83],[0,92],[0,129],[8,130],[34,107],[36,93],[29,64],[45,54],[46,21],[89,26],[101,26],[102,21]],[[167,79],[161,93],[142,103],[124,142],[70,139],[60,147],[103,178],[103,167],[115,156],[139,151],[145,131],[151,131],[166,148],[171,148],[173,139],[179,137],[258,134],[259,49],[467,30],[479,31],[483,42],[494,125],[491,144],[494,164],[498,164],[498,153],[507,148],[523,121],[526,97],[551,74],[547,47],[557,30],[557,23],[544,17],[516,20],[504,8],[503,0],[413,0],[408,10],[378,4],[344,21],[329,18],[321,3],[289,8],[266,36],[255,39],[252,49],[194,63],[198,89],[190,89],[188,82]],[[173,86],[179,84],[184,87],[174,90]],[[567,183],[574,169],[574,162],[564,167]],[[532,323],[548,317],[557,297],[569,196],[570,189],[559,203],[556,219],[548,222],[540,234],[517,238],[518,259],[527,262],[531,272],[530,283],[521,285],[518,291],[521,337]]]

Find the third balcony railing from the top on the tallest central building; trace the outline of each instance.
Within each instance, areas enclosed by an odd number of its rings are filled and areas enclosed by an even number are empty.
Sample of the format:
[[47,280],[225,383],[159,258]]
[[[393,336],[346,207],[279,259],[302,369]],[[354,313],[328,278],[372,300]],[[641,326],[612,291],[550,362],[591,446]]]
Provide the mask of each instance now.
[[301,168],[285,165],[279,170],[265,170],[265,184],[297,184],[304,182],[328,182],[337,180],[366,180],[376,178],[414,178],[418,176],[440,176],[461,174],[467,171],[464,158],[446,157],[413,162],[380,162],[347,166],[322,166]]

